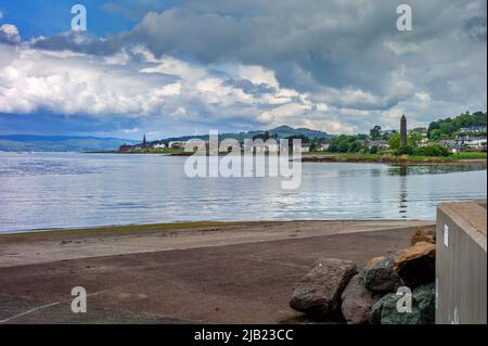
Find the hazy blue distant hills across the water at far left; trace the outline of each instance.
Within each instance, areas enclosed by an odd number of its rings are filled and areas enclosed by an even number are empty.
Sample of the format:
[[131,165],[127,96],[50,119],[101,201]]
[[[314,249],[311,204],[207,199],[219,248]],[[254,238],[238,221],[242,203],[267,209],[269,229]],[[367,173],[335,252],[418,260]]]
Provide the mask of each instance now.
[[137,142],[118,138],[8,134],[0,136],[0,151],[98,152],[117,150],[121,144]]

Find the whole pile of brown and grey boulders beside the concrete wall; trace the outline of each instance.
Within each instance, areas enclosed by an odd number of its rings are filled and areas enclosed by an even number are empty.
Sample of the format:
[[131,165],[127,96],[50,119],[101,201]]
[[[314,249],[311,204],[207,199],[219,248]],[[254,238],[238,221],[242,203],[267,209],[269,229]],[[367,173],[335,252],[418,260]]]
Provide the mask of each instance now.
[[[320,259],[295,285],[290,306],[313,318],[342,319],[349,324],[433,323],[434,232],[418,228],[411,245],[372,258],[359,273],[352,261]],[[407,292],[411,305],[402,310]]]

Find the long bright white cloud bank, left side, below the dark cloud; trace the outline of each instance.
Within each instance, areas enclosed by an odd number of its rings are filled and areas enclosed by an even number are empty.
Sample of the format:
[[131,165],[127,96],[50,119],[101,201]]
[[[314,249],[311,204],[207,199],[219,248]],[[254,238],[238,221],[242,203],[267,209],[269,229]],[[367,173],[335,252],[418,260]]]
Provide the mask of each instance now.
[[[325,103],[316,104],[307,93],[280,88],[274,73],[259,66],[208,68],[167,55],[155,59],[141,49],[97,57],[0,44],[0,56],[3,113],[49,110],[66,115],[206,121],[239,116],[275,124],[328,111]],[[233,84],[240,78],[267,87],[249,93]]]

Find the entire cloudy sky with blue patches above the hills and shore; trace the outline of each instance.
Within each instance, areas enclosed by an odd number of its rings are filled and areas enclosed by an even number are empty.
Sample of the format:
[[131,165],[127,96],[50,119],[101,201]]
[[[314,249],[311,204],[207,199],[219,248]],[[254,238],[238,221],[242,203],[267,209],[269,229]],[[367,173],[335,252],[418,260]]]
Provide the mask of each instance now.
[[0,0],[0,134],[428,126],[487,108],[486,0]]

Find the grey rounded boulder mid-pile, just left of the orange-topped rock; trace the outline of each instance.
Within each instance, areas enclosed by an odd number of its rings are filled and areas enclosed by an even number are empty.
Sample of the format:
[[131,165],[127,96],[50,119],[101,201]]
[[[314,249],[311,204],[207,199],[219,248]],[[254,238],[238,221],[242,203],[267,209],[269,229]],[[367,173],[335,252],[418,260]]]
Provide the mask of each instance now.
[[364,285],[376,292],[394,292],[401,286],[401,281],[394,270],[397,254],[374,257],[363,270]]

